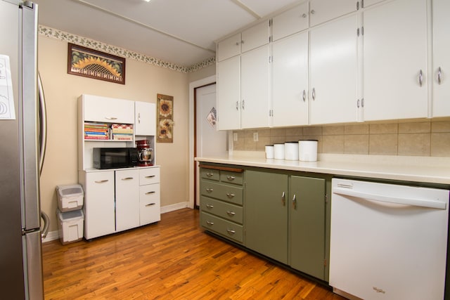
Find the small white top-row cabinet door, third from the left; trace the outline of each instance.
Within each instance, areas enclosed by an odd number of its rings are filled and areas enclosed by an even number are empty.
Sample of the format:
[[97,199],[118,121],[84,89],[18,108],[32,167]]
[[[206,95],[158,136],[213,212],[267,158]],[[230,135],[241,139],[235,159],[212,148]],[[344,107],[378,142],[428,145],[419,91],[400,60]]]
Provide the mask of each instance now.
[[290,34],[295,34],[308,28],[308,2],[295,6],[272,19],[272,40],[277,41]]

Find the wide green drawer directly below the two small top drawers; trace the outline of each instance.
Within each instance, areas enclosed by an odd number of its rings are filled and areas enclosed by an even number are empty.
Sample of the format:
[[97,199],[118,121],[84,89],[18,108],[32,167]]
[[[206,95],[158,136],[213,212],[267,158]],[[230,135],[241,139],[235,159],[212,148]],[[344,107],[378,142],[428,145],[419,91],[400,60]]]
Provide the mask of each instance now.
[[232,186],[212,181],[202,181],[200,183],[200,193],[201,195],[226,202],[243,204],[243,188],[239,185]]

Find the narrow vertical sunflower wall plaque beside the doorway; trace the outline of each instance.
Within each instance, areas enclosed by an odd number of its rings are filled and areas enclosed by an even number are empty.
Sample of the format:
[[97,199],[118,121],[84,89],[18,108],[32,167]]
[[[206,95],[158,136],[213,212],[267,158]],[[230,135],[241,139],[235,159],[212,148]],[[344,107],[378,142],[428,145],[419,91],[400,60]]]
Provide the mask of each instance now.
[[174,142],[174,97],[157,94],[158,143]]

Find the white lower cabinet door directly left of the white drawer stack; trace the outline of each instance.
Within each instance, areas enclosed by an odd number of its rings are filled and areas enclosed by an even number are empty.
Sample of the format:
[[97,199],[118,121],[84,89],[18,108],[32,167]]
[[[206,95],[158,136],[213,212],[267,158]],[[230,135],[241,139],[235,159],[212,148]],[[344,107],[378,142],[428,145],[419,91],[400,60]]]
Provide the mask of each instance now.
[[116,230],[139,226],[139,170],[115,171]]

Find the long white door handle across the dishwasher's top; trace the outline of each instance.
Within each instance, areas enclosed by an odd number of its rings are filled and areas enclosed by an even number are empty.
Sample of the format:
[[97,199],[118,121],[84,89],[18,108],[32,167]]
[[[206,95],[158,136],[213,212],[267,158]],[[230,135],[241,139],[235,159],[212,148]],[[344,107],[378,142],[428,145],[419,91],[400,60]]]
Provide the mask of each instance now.
[[364,198],[373,201],[389,202],[393,204],[413,205],[416,207],[428,207],[431,209],[446,209],[445,202],[413,199],[413,198],[390,197],[387,195],[379,195],[379,194],[358,192],[355,190],[348,190],[347,188],[333,188],[333,194]]

